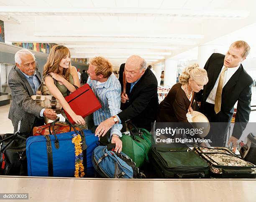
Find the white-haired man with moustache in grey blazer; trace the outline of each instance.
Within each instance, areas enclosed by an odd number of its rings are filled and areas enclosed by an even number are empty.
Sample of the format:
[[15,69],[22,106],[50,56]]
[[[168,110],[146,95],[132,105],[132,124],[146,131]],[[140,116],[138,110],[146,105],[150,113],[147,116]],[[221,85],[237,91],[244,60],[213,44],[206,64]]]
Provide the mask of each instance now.
[[44,116],[48,119],[56,119],[56,113],[52,109],[44,109],[31,98],[41,83],[41,76],[36,73],[36,61],[33,53],[22,49],[15,54],[16,65],[8,76],[8,85],[12,93],[12,103],[8,118],[12,121],[14,132],[30,134],[34,126],[44,125]]

